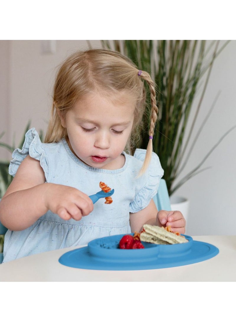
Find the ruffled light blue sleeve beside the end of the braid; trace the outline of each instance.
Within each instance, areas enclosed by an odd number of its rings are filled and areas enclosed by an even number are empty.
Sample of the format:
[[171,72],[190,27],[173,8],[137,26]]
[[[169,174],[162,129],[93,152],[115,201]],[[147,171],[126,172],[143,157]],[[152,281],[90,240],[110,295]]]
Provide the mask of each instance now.
[[[146,150],[136,149],[134,157],[144,161]],[[160,179],[164,175],[164,170],[161,167],[159,157],[156,153],[152,153],[150,164],[146,173],[140,177],[142,185],[140,190],[135,195],[134,201],[130,204],[130,213],[137,213],[138,211],[146,208],[151,199],[156,195],[160,183]]]

